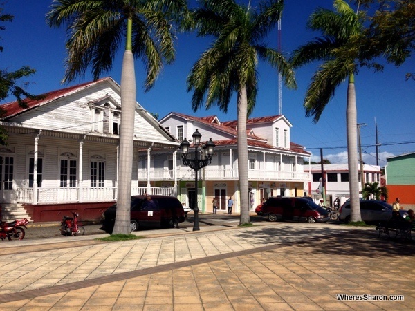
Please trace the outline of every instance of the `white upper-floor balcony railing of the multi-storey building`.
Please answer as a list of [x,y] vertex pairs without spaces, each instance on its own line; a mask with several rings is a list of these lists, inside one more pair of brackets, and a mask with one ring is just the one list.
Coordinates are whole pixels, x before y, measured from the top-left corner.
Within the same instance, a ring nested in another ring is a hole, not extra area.
[[[238,180],[238,169],[218,169],[205,167],[201,169],[199,176],[203,180]],[[139,180],[147,180],[147,170],[138,172]],[[149,171],[150,181],[156,180],[194,180],[194,170],[187,167],[178,167],[176,176],[174,170],[154,169]],[[270,171],[263,169],[250,169],[249,180],[275,180],[275,181],[296,181],[306,182],[310,180],[310,174],[299,171]]]

